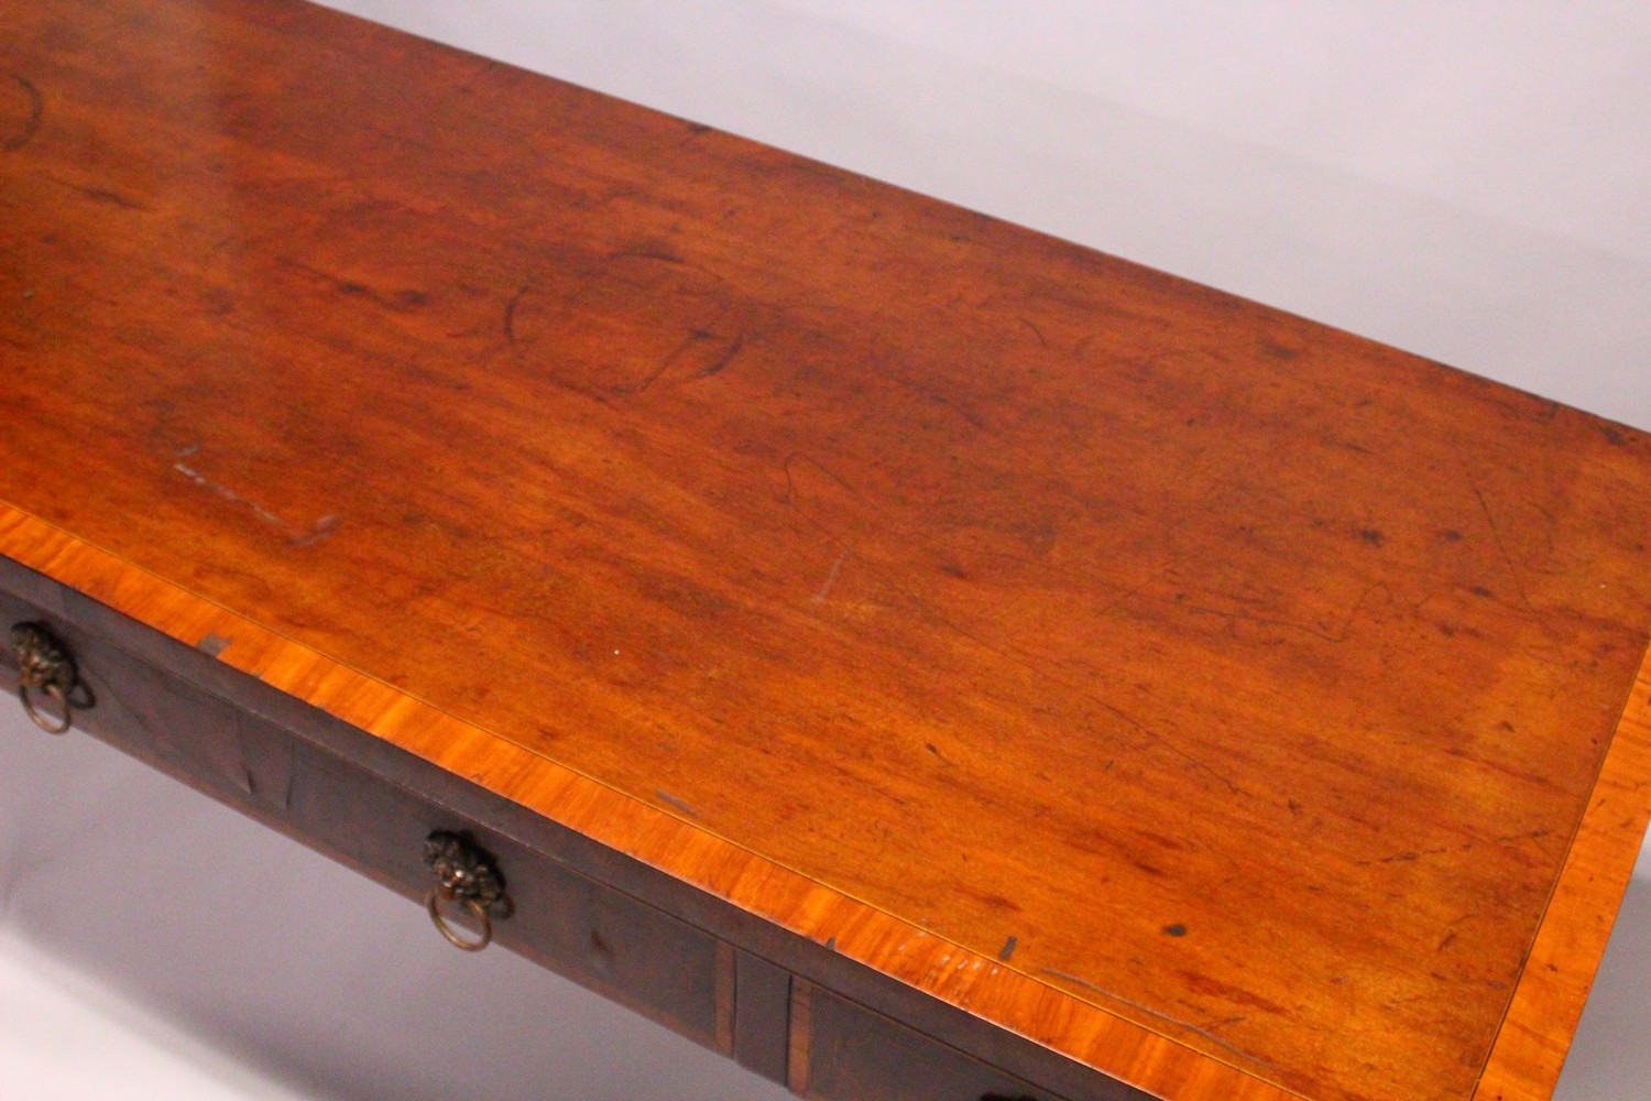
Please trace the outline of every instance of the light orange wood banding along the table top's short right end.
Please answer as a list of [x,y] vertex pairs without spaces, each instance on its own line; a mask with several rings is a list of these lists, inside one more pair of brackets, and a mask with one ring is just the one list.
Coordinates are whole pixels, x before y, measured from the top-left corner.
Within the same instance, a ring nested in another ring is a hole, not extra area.
[[1651,822],[1651,652],[1639,665],[1588,809],[1473,1101],[1547,1101]]

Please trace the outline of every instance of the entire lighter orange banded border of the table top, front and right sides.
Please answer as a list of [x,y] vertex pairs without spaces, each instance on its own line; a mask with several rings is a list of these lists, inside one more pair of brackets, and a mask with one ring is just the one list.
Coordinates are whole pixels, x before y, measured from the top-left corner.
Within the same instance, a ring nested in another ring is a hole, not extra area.
[[[1301,1098],[525,749],[0,502],[0,555],[551,822],[1157,1096]],[[528,779],[532,774],[532,779]],[[1552,1096],[1651,822],[1646,650],[1471,1101]],[[1166,1022],[1171,1023],[1171,1022]],[[1559,1027],[1555,1027],[1559,1025]]]

